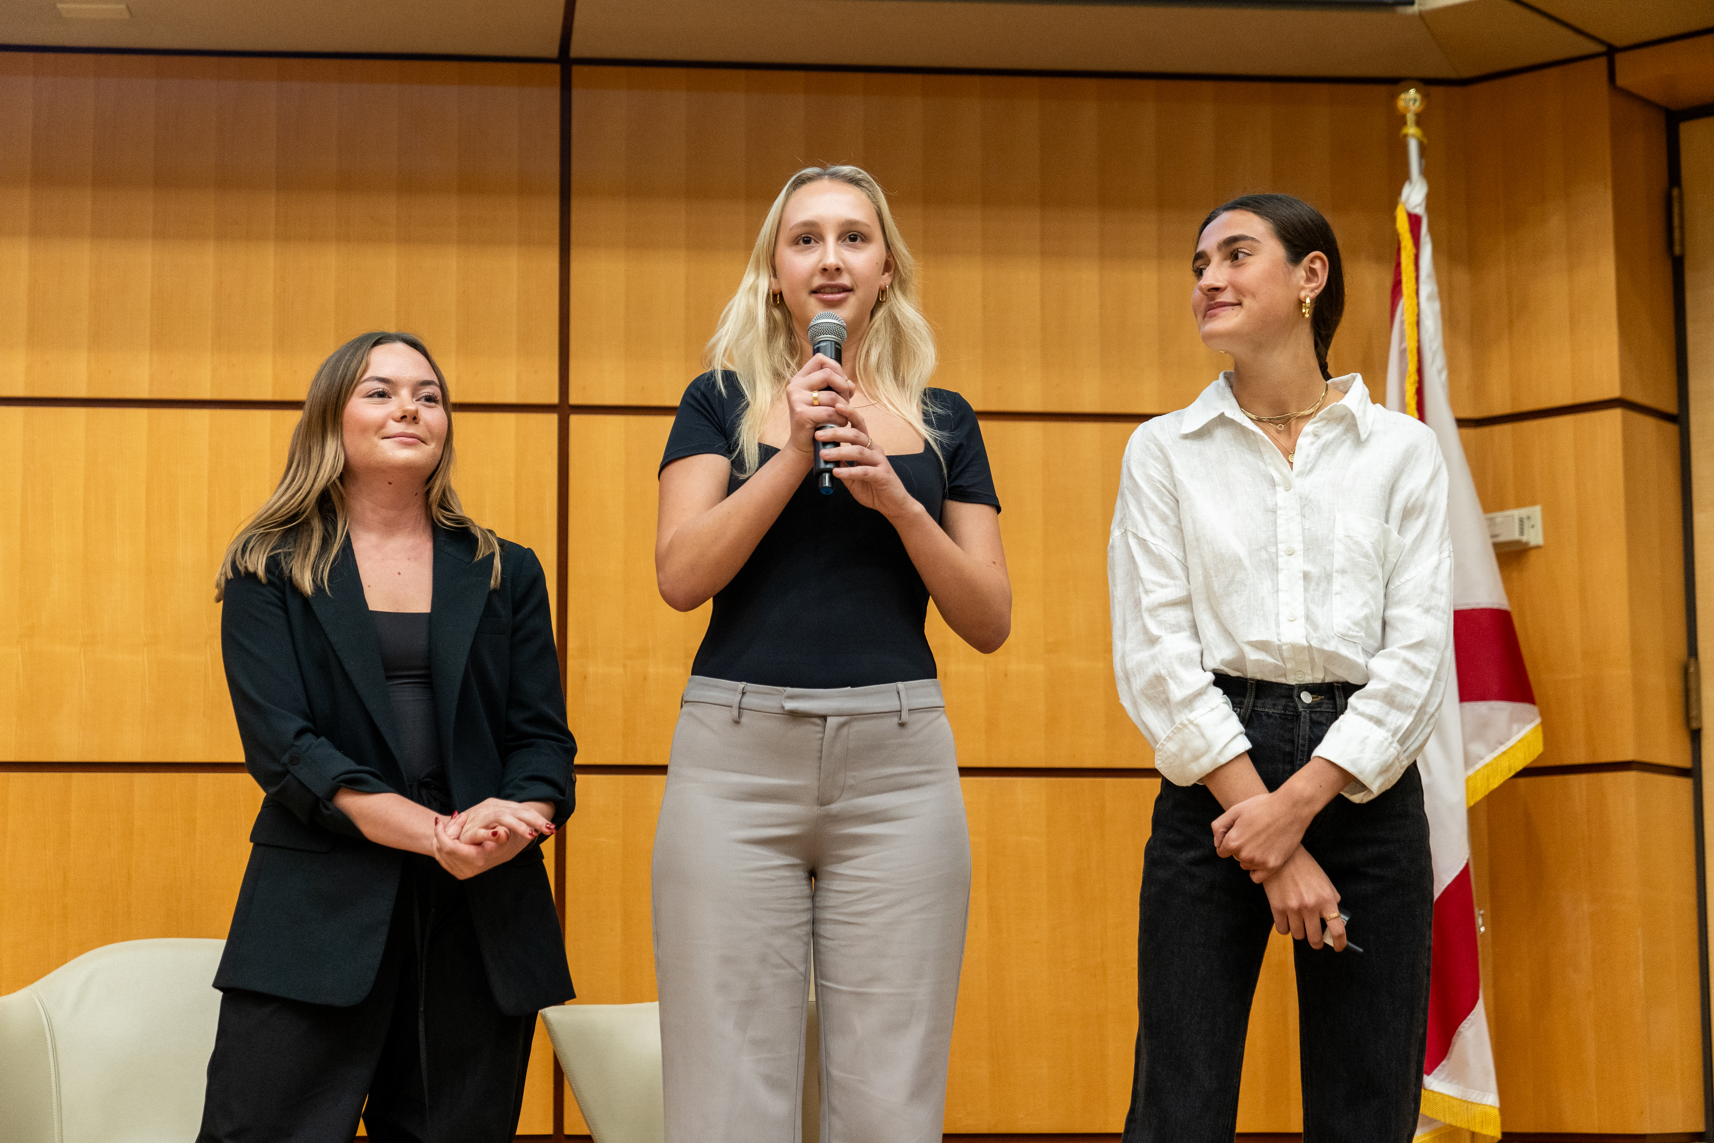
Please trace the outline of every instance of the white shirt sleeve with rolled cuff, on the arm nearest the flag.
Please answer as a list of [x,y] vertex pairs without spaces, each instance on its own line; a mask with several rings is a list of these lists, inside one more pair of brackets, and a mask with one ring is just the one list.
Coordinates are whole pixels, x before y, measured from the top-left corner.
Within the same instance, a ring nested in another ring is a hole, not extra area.
[[1381,649],[1368,661],[1368,684],[1315,751],[1356,778],[1344,790],[1352,802],[1383,793],[1423,752],[1452,673],[1452,535],[1438,444],[1424,449],[1423,466],[1429,476],[1409,494],[1399,521]]

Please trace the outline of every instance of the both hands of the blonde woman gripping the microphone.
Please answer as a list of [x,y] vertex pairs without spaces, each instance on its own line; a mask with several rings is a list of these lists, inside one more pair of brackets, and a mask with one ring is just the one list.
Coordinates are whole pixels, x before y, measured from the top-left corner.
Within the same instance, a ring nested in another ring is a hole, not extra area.
[[843,461],[833,478],[845,483],[864,507],[895,518],[917,507],[905,490],[886,452],[874,446],[869,427],[852,398],[857,386],[840,363],[821,353],[809,358],[785,387],[792,420],[790,447],[814,459],[819,451],[828,461]]

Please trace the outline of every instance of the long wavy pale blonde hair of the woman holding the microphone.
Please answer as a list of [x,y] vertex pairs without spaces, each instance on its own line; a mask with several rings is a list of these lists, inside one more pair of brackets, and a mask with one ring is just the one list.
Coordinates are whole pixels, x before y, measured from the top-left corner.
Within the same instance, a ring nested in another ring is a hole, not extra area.
[[780,197],[768,209],[749,266],[739,281],[739,291],[727,302],[715,336],[708,341],[706,360],[715,370],[715,384],[725,392],[723,374],[730,370],[744,392],[737,471],[742,476],[756,471],[763,423],[800,365],[792,312],[770,303],[768,278],[773,274],[773,248],[780,240],[785,204],[802,187],[816,182],[840,182],[860,190],[881,219],[881,235],[888,254],[893,255],[893,283],[886,290],[886,300],[876,302],[869,310],[869,331],[864,334],[857,360],[848,362],[847,368],[860,379],[876,404],[920,432],[944,463],[941,452],[944,434],[931,427],[922,415],[922,391],[934,375],[934,332],[917,308],[917,260],[893,223],[886,194],[860,166],[806,166],[787,180]]

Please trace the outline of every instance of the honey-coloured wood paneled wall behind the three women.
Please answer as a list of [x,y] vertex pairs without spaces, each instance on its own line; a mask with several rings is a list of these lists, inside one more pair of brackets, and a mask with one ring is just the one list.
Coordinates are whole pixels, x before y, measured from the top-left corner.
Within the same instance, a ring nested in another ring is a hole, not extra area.
[[[1501,567],[1549,771],[1472,817],[1507,1126],[1692,1131],[1688,783],[1551,769],[1688,761],[1671,331],[1645,211],[1661,118],[1599,63],[1431,99],[1453,406],[1630,403],[1465,432],[1484,504],[1539,502],[1548,535]],[[948,1129],[1118,1131],[1159,787],[1135,776],[1152,756],[1107,648],[1128,415],[1181,406],[1220,368],[1186,264],[1208,207],[1248,190],[1328,212],[1351,293],[1333,365],[1381,389],[1404,178],[1390,91],[572,69],[564,502],[557,125],[552,67],[0,55],[0,399],[60,403],[0,406],[0,535],[29,536],[0,547],[0,763],[24,771],[0,773],[0,990],[96,944],[219,936],[257,799],[238,773],[149,768],[238,759],[211,576],[295,415],[87,398],[295,399],[341,339],[410,327],[458,399],[499,406],[458,415],[466,507],[547,567],[566,526],[571,720],[581,761],[619,768],[583,778],[564,835],[567,951],[583,1002],[651,999],[663,778],[638,768],[667,761],[706,610],[655,591],[670,420],[638,406],[674,404],[699,370],[785,177],[855,161],[920,259],[939,384],[1006,413],[984,434],[1013,636],[980,656],[934,615],[929,632],[960,761],[980,768]],[[43,804],[91,807],[99,840],[43,841]],[[1632,1006],[1613,1020],[1606,982]],[[531,1085],[523,1129],[548,1131],[545,1038]],[[569,1093],[564,1126],[583,1129]],[[1239,1128],[1299,1126],[1282,941]]]

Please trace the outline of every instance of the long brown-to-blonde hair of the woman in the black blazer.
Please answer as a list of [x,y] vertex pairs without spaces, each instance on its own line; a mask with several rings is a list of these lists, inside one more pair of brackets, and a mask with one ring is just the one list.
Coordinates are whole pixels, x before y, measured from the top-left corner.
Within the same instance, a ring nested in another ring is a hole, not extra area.
[[405,344],[428,362],[440,382],[440,399],[446,403],[446,444],[440,446],[440,463],[428,473],[428,518],[440,528],[468,530],[476,536],[476,559],[494,557],[494,574],[488,589],[500,586],[500,538],[464,516],[452,492],[452,394],[446,375],[428,353],[428,346],[411,334],[367,332],[351,338],[333,351],[310,382],[303,398],[303,416],[291,430],[286,449],[286,471],[267,502],[245,521],[243,528],[221,557],[214,576],[214,600],[226,595],[226,581],[250,574],[267,583],[267,560],[281,552],[286,574],[303,595],[315,588],[327,589],[333,564],[350,533],[345,485],[345,406],[351,391],[369,368],[369,353],[379,344]]

